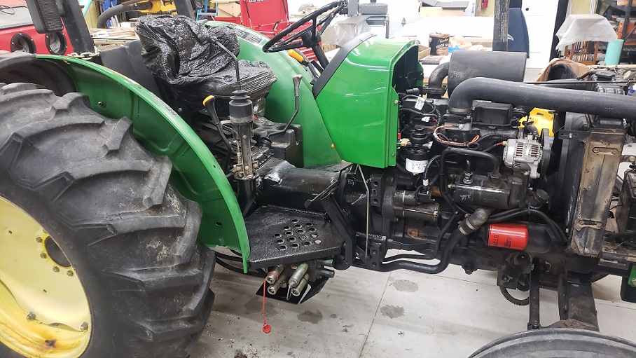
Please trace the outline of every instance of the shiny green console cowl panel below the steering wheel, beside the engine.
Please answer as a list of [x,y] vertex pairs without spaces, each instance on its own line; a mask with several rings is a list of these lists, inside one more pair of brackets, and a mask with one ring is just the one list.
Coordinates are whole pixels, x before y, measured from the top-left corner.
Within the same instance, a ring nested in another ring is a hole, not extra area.
[[[416,46],[415,41],[371,37],[347,55],[319,93],[318,107],[343,160],[379,168],[395,165],[398,95],[392,87],[394,68]],[[415,55],[417,62],[417,51]]]

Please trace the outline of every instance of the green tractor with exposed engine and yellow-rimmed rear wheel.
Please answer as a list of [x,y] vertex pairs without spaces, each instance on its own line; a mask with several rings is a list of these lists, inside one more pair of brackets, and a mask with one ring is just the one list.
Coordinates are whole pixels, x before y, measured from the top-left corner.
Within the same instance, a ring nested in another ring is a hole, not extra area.
[[290,303],[351,266],[491,270],[528,331],[474,357],[635,357],[591,291],[618,275],[636,301],[636,98],[615,71],[530,85],[523,54],[458,52],[424,86],[415,41],[327,59],[346,1],[271,40],[148,16],[97,52],[76,1],[27,3],[76,53],[0,55],[0,357],[188,357],[215,263]]

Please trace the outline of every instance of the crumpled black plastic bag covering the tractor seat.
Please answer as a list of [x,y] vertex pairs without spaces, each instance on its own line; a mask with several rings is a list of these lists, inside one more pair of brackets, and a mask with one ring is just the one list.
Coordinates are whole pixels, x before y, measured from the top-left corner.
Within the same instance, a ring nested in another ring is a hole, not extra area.
[[[236,89],[234,60],[214,43],[239,53],[229,25],[207,27],[182,15],[148,15],[137,22],[137,34],[146,67],[186,104],[200,108],[208,95],[229,96]],[[276,81],[265,62],[240,60],[239,70],[242,88],[252,98],[265,95]]]

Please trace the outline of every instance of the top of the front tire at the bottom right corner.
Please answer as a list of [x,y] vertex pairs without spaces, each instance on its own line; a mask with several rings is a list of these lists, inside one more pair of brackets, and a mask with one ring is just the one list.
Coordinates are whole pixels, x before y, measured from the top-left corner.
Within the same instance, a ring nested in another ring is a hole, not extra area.
[[484,345],[470,358],[633,358],[636,344],[595,331],[544,328],[514,333]]

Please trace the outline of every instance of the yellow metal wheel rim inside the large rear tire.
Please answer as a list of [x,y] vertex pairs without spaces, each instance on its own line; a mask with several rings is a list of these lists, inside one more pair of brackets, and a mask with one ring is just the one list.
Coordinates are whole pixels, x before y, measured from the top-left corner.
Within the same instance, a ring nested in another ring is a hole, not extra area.
[[25,357],[79,357],[90,339],[88,299],[53,237],[0,197],[0,342]]

